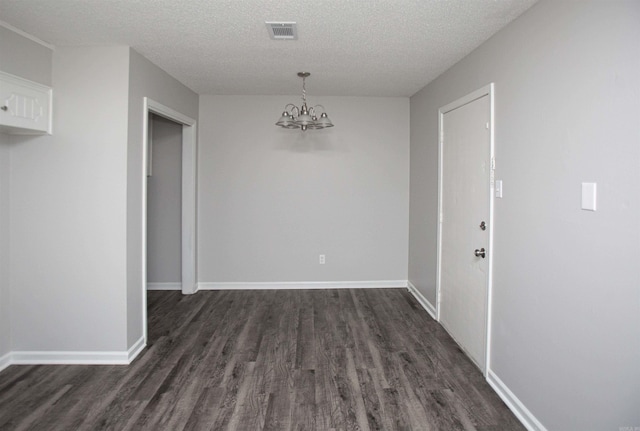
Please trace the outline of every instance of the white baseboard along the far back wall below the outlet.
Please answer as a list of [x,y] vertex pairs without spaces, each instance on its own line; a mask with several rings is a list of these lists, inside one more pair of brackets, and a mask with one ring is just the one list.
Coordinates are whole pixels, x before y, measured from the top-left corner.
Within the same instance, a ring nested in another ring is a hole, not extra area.
[[406,288],[407,280],[198,283],[198,290],[379,289],[396,287]]

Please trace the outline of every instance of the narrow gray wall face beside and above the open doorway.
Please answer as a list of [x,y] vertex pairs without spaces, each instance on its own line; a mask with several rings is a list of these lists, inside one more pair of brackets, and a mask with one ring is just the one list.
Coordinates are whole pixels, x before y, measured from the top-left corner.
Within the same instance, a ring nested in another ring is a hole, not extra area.
[[130,50],[129,134],[127,149],[127,343],[132,346],[143,334],[142,304],[145,286],[142,264],[142,184],[143,170],[143,98],[198,118],[198,95],[155,64]]

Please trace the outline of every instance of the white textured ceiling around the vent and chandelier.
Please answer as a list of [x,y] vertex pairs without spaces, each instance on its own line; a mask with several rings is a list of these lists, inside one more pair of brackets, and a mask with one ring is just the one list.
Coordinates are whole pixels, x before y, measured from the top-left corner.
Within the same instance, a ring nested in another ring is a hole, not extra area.
[[[536,0],[0,0],[53,45],[129,45],[199,94],[411,96]],[[296,21],[296,41],[265,21]]]

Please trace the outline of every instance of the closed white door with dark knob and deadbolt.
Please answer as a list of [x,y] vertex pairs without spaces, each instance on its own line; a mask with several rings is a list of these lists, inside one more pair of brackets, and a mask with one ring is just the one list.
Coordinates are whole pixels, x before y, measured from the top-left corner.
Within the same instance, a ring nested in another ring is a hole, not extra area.
[[440,113],[439,318],[484,371],[490,268],[491,94],[468,97]]

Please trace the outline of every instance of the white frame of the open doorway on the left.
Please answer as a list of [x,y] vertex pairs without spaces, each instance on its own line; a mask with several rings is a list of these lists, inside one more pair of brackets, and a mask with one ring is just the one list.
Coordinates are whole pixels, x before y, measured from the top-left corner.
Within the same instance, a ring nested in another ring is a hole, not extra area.
[[189,295],[197,289],[196,276],[196,120],[148,97],[143,101],[142,125],[142,315],[144,339],[147,341],[147,172],[149,169],[149,114],[159,115],[182,126],[182,204],[181,204],[181,267],[182,293]]

